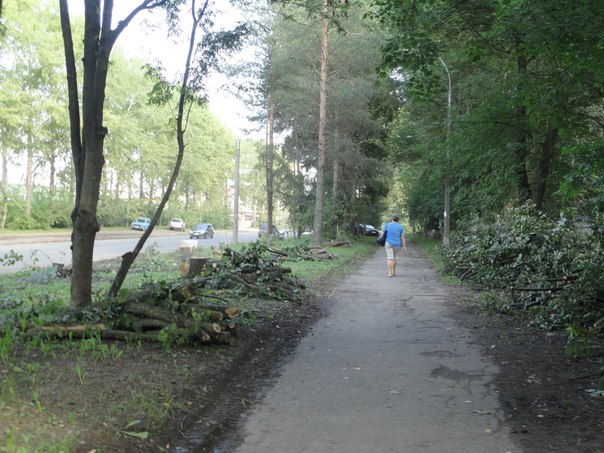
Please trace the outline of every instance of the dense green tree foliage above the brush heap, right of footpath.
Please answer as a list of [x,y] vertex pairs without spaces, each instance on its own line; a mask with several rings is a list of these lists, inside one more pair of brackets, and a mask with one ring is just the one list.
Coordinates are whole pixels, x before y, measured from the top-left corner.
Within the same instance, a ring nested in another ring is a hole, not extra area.
[[398,82],[389,150],[412,221],[439,228],[449,168],[452,228],[528,199],[602,223],[602,5],[370,4],[386,39],[380,73]]

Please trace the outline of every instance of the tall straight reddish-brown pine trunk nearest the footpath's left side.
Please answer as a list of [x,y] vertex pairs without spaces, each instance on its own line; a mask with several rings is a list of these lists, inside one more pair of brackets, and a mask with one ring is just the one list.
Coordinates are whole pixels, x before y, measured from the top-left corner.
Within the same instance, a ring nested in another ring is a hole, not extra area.
[[313,245],[323,242],[323,211],[325,201],[325,160],[327,154],[327,61],[329,50],[329,19],[327,1],[322,1],[323,31],[321,35],[321,83],[319,94],[319,158],[317,161],[317,195],[315,198],[315,217],[313,221]]

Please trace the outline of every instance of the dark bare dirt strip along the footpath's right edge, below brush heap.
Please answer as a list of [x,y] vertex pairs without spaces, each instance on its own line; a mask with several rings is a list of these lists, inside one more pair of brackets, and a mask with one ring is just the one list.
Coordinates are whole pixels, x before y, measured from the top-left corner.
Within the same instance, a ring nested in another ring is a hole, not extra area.
[[570,359],[565,335],[525,327],[511,316],[485,314],[461,293],[451,315],[499,367],[493,385],[524,451],[604,452],[604,398],[587,392],[597,387],[604,370],[604,339],[591,338],[591,356]]

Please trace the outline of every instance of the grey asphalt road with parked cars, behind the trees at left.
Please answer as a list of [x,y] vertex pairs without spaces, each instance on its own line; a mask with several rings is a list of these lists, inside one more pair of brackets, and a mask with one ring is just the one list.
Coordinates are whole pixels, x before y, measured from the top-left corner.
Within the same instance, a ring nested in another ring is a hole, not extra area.
[[[94,260],[116,258],[132,250],[141,236],[140,231],[101,231],[94,246]],[[197,240],[198,247],[210,247],[220,243],[230,244],[232,232],[217,230],[212,239]],[[252,242],[258,239],[257,230],[240,230],[239,242]],[[189,240],[188,231],[156,229],[147,239],[145,248],[156,248],[160,253],[177,251],[183,240]],[[23,259],[13,265],[0,265],[0,274],[36,266],[49,267],[52,263],[71,264],[71,242],[68,233],[14,234],[0,236],[0,257],[11,251],[22,255]]]

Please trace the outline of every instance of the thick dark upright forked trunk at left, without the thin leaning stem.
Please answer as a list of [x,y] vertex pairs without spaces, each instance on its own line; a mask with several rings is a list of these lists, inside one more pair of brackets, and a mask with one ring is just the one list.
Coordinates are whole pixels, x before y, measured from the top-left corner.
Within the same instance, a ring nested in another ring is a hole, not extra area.
[[102,11],[99,0],[84,1],[84,65],[80,131],[77,69],[67,0],[59,0],[59,7],[65,47],[71,145],[76,179],[76,199],[72,211],[70,298],[72,306],[83,307],[92,302],[93,251],[96,233],[99,231],[96,214],[101,175],[105,164],[103,144],[107,130],[103,126],[103,108],[109,56],[115,39],[134,15],[120,22],[118,27],[112,30],[113,1],[105,1]]

